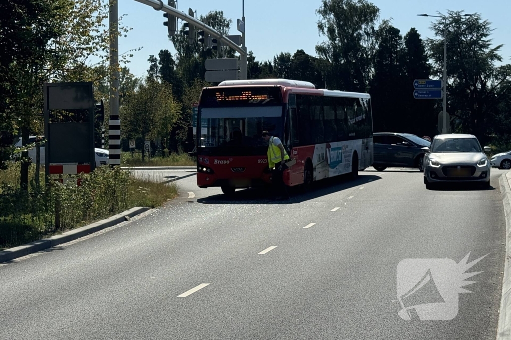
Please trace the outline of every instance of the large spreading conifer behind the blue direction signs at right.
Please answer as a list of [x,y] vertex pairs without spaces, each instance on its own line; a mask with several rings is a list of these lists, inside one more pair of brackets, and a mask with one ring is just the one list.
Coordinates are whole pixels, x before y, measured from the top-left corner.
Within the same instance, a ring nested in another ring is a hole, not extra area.
[[[449,11],[432,24],[440,39],[428,39],[433,73],[442,77],[444,38],[447,42],[447,112],[455,130],[474,134],[481,143],[490,139],[492,115],[509,92],[504,86],[511,76],[502,61],[502,45],[492,47],[491,23],[475,14]],[[440,78],[441,79],[441,78]]]

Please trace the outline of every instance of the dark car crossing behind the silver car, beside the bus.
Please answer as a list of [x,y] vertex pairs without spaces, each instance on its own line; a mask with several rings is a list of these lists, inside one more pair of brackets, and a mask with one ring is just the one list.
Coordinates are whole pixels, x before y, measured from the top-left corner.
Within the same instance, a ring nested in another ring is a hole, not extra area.
[[373,134],[373,167],[383,171],[388,167],[417,168],[424,171],[423,147],[431,144],[425,139],[410,134]]

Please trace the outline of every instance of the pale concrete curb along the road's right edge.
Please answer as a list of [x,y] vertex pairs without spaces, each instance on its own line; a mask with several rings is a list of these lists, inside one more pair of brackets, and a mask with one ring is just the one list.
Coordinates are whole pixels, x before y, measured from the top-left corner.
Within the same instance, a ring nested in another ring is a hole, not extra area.
[[504,220],[506,223],[504,273],[502,275],[502,293],[500,298],[499,321],[497,325],[497,340],[511,339],[511,172],[499,177],[500,194],[504,206]]

